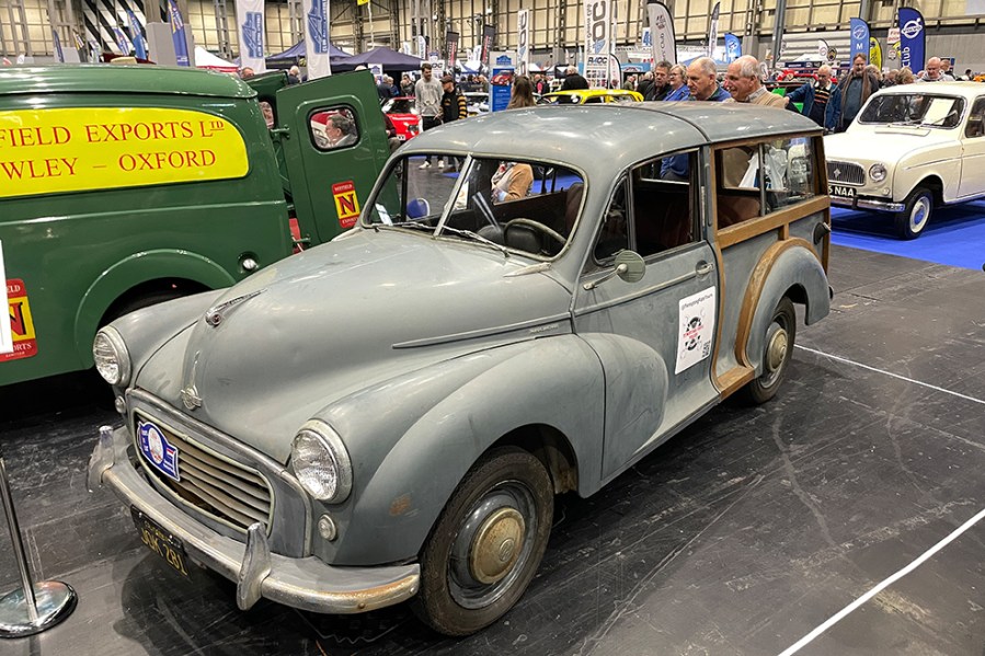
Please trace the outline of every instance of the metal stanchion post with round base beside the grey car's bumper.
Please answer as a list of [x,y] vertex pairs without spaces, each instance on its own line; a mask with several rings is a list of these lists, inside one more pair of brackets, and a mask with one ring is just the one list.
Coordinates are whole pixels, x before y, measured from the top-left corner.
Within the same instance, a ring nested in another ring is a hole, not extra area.
[[7,465],[0,450],[0,497],[3,498],[3,513],[13,543],[14,557],[21,574],[21,589],[0,598],[0,637],[24,637],[50,629],[76,608],[76,591],[71,586],[45,580],[33,583],[24,542],[21,539],[21,527],[14,511],[13,498],[10,494],[10,481],[7,477]]

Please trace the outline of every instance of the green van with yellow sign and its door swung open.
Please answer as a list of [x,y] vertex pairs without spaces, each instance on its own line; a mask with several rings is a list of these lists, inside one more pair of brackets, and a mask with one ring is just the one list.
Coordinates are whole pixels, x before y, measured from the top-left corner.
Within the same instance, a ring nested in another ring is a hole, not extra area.
[[116,317],[230,286],[355,223],[389,156],[371,74],[251,84],[148,66],[0,70],[13,342],[0,385],[89,368]]

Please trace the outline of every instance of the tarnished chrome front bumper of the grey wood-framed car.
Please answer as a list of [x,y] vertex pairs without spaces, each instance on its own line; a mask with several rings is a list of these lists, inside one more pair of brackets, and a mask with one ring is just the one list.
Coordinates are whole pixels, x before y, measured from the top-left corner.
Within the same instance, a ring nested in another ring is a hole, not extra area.
[[392,606],[413,597],[421,566],[334,567],[314,556],[291,559],[272,554],[259,525],[243,544],[198,523],[159,495],[140,475],[127,454],[126,428],[100,429],[89,460],[89,488],[107,486],[136,506],[162,529],[179,538],[188,556],[237,584],[242,610],[261,597],[323,613],[358,613]]

